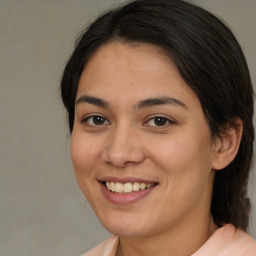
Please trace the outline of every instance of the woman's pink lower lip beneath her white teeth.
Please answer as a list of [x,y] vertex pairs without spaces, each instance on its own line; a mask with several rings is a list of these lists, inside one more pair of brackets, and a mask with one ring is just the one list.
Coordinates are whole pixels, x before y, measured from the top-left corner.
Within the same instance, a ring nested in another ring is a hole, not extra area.
[[101,186],[101,191],[105,196],[105,198],[109,202],[113,204],[119,204],[119,205],[128,205],[128,204],[135,203],[145,198],[146,196],[148,196],[156,187],[156,186],[153,186],[151,188],[147,188],[145,190],[139,190],[129,194],[118,194],[108,190],[102,182],[100,182],[100,186]]

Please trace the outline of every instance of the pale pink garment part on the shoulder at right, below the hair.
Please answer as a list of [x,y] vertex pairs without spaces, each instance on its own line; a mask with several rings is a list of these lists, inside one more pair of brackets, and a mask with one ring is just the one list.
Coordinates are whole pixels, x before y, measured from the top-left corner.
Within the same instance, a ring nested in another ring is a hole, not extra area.
[[193,256],[255,256],[256,241],[227,224],[219,228]]

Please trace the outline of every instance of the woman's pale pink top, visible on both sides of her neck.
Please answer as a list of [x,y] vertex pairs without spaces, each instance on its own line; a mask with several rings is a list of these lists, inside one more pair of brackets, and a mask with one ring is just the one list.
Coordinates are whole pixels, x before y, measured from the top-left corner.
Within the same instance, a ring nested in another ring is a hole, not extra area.
[[[112,236],[82,256],[115,256],[118,236]],[[256,256],[256,241],[240,229],[228,224],[217,229],[191,256]]]

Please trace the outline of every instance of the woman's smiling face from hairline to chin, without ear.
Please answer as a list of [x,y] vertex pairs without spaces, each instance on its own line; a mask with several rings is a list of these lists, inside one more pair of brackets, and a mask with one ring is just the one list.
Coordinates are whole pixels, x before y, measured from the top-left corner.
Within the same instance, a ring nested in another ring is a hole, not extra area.
[[111,42],[91,57],[71,157],[106,229],[144,237],[201,225],[210,216],[215,151],[197,96],[161,49]]

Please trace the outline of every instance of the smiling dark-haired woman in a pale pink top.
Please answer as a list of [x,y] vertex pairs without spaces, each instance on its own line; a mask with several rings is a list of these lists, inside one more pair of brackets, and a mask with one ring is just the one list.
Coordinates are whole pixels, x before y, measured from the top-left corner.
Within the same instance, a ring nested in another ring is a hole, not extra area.
[[253,89],[231,31],[178,0],[82,34],[61,82],[79,186],[114,234],[85,255],[256,255]]

